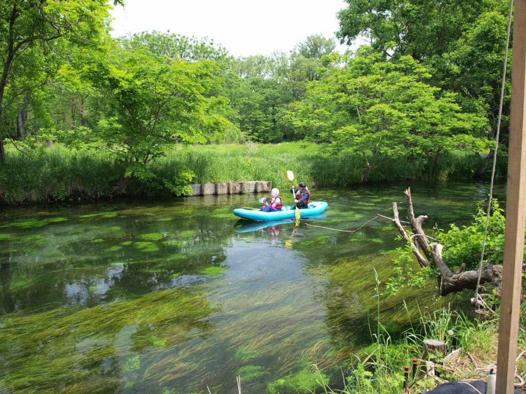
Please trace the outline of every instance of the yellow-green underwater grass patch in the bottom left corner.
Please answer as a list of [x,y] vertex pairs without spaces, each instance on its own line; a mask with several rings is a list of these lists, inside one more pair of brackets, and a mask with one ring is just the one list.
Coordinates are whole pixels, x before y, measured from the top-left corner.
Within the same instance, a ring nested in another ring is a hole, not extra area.
[[[206,298],[175,288],[91,308],[64,306],[7,315],[0,327],[0,352],[7,366],[0,372],[0,383],[17,392],[71,385],[78,385],[77,392],[90,392],[86,379],[107,376],[113,377],[114,385],[121,373],[126,374],[124,367],[131,368],[130,358],[140,366],[152,336],[172,348],[180,346],[196,335],[196,328],[208,329],[199,320],[212,311]],[[123,330],[129,334],[119,335]],[[104,362],[111,362],[112,370],[103,373]]]

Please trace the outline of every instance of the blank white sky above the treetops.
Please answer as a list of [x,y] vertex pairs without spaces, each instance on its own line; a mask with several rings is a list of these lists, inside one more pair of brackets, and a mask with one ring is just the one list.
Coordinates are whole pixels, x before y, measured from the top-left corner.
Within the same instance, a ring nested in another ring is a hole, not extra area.
[[[311,34],[333,37],[343,0],[126,0],[113,11],[114,37],[145,30],[208,37],[231,55],[289,51]],[[338,51],[346,47],[338,45]]]

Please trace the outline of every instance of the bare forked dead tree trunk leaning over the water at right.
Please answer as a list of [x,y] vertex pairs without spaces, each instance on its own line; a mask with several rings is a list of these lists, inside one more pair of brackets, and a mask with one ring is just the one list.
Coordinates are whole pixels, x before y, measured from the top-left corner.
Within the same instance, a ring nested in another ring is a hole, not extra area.
[[[411,189],[404,191],[407,201],[407,219],[411,226],[411,232],[413,235],[409,236],[407,231],[402,226],[399,219],[398,205],[393,202],[393,213],[395,219],[393,223],[398,229],[398,232],[402,235],[403,239],[411,244],[413,254],[417,257],[418,263],[421,267],[427,267],[432,264],[438,269],[440,274],[438,281],[440,286],[440,294],[446,295],[449,293],[459,292],[463,289],[474,290],[477,287],[477,279],[479,271],[473,269],[471,271],[463,271],[464,267],[461,266],[457,272],[451,271],[451,269],[444,263],[442,258],[443,245],[438,242],[430,243],[428,239],[432,239],[426,235],[422,229],[422,224],[426,222],[428,217],[426,215],[420,215],[416,217],[414,215],[413,203],[411,200]],[[500,287],[502,283],[502,265],[486,264],[482,267],[480,276],[480,285],[492,284],[497,288],[500,294]]]

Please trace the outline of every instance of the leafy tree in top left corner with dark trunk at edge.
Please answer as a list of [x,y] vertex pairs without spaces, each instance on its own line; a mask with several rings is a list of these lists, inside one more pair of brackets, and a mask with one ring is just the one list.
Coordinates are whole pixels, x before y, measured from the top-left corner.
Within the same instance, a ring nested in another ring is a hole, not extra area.
[[[114,3],[120,3],[115,0]],[[94,45],[107,28],[106,0],[9,0],[0,5],[0,119],[9,76],[24,51],[41,46],[52,56],[60,45]],[[1,126],[1,125],[0,125]],[[0,128],[0,162],[5,162]]]

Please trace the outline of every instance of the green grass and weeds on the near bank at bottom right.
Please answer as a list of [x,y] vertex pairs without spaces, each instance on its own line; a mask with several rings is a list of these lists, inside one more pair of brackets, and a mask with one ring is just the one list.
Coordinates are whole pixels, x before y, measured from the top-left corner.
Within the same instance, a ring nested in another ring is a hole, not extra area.
[[[378,344],[372,344],[358,351],[349,359],[349,371],[342,390],[333,390],[328,385],[323,389],[327,394],[398,394],[403,387],[404,367],[411,365],[411,359],[421,359],[423,339],[437,339],[446,343],[446,351],[462,348],[477,355],[493,354],[496,351],[495,330],[497,324],[489,321],[474,324],[462,313],[450,308],[436,310],[430,314],[420,314],[419,324],[392,341],[386,333]],[[473,376],[473,371],[456,372],[451,376],[449,368],[441,368],[441,357],[434,357],[437,371],[444,379],[463,380]],[[410,377],[411,379],[411,377]],[[410,380],[410,383],[413,383]],[[434,380],[414,381],[416,392],[431,390],[436,386]]]

